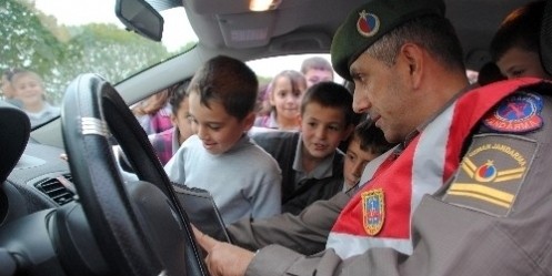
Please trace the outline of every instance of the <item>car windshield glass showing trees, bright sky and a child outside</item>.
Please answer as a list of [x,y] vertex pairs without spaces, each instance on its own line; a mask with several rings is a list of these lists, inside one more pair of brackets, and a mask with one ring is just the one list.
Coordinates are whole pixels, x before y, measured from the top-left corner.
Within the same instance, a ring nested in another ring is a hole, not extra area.
[[2,99],[22,108],[33,127],[57,117],[63,92],[78,74],[98,73],[117,84],[198,41],[182,7],[161,12],[159,43],[127,31],[116,16],[116,0],[2,2]]

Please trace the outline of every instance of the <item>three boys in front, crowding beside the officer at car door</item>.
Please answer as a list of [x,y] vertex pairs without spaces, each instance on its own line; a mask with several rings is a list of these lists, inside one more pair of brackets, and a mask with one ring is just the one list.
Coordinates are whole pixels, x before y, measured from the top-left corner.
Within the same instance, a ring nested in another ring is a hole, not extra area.
[[185,89],[188,105],[177,110],[185,110],[194,134],[164,165],[177,185],[209,191],[228,224],[298,214],[354,186],[364,165],[392,146],[379,129],[359,124],[351,92],[332,81],[301,93],[297,131],[250,132],[258,86],[242,61],[207,61]]

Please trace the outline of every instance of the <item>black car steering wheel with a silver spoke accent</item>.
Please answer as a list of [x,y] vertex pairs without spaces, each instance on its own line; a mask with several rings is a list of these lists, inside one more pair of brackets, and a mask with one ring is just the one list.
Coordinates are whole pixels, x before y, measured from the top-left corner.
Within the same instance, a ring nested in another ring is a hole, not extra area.
[[[79,75],[63,98],[61,127],[79,201],[110,270],[208,275],[172,184],[114,88],[99,75]],[[110,133],[140,181],[121,177]]]

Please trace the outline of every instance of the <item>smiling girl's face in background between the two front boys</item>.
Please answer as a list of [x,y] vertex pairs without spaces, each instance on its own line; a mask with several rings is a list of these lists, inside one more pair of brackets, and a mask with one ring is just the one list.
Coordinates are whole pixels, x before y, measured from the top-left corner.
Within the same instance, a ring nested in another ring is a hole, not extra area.
[[285,76],[280,76],[274,80],[274,86],[270,96],[270,104],[277,110],[278,116],[287,121],[298,120],[301,106],[301,99],[305,86],[298,86],[295,91],[292,90],[291,80]]

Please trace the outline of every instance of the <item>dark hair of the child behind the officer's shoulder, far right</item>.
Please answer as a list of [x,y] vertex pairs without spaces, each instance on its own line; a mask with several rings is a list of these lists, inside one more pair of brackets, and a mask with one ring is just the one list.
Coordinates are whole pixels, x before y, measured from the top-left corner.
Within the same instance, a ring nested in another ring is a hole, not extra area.
[[494,61],[513,47],[539,53],[541,41],[541,21],[546,1],[529,2],[508,14],[491,41],[491,54]]

